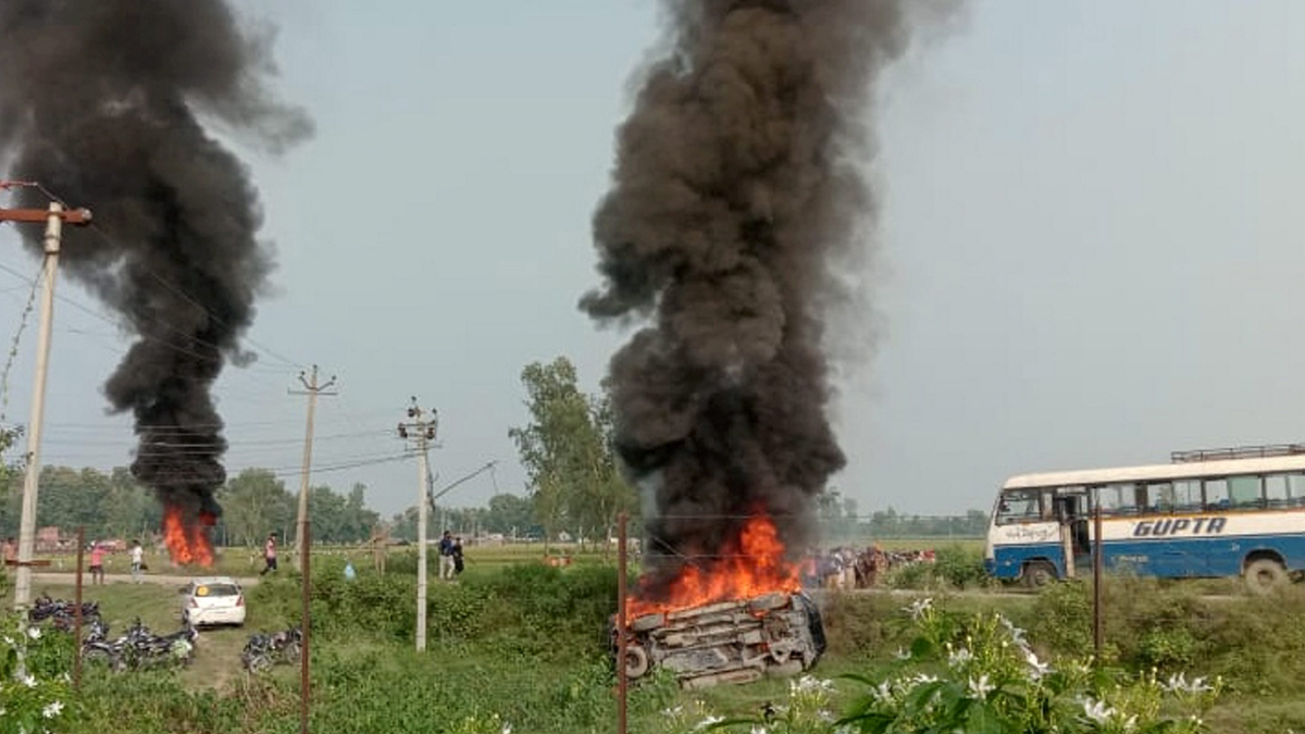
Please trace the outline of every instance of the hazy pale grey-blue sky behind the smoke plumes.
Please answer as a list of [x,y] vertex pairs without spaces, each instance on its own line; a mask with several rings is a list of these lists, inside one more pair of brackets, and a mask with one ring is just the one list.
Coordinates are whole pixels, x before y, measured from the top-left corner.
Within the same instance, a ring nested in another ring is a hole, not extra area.
[[[415,394],[441,414],[437,485],[501,461],[452,504],[523,491],[521,368],[568,355],[594,388],[621,340],[576,302],[598,283],[590,214],[656,3],[241,8],[281,27],[281,89],[318,135],[281,159],[241,150],[279,268],[251,332],[275,354],[219,384],[228,470],[298,487],[288,359],[339,375],[318,469],[399,453]],[[951,513],[1015,473],[1305,440],[1301,38],[1293,0],[989,0],[917,46],[876,120],[877,311],[857,323],[880,336],[840,367],[839,490]],[[4,229],[0,264],[38,266]],[[0,272],[5,342],[25,296]],[[54,343],[43,458],[129,462],[130,423],[99,392],[128,342],[60,302]],[[34,345],[9,423],[27,419]],[[365,482],[386,513],[416,479],[412,461],[315,474]]]

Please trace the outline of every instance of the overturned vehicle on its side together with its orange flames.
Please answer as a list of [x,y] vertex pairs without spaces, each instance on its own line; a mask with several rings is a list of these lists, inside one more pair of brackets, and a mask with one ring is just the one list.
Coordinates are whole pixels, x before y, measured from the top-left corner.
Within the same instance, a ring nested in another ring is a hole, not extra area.
[[736,542],[709,563],[685,563],[659,597],[650,577],[625,601],[626,627],[611,626],[612,652],[625,635],[625,674],[675,674],[684,688],[749,683],[809,670],[825,652],[820,609],[784,560],[778,530],[752,517]]

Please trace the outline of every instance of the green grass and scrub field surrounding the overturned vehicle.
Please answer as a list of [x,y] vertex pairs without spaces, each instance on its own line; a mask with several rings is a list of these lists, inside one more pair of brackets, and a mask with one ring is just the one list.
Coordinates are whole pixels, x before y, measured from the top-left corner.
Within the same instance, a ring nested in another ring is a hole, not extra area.
[[[929,546],[974,552],[966,546]],[[435,581],[432,569],[429,649],[420,654],[412,650],[411,635],[415,552],[397,549],[384,579],[371,571],[369,555],[335,549],[315,554],[315,731],[500,734],[496,721],[510,722],[518,734],[613,730],[602,631],[613,607],[613,559],[577,554],[573,566],[555,569],[540,563],[540,546],[471,547],[467,554],[467,572],[454,584]],[[343,580],[346,558],[358,567],[356,582]],[[73,596],[64,582],[35,590]],[[1305,729],[1305,695],[1296,694],[1296,680],[1305,675],[1305,631],[1297,624],[1305,615],[1305,589],[1265,599],[1245,594],[1233,581],[1112,579],[1107,593],[1107,650],[1114,663],[1130,670],[1154,666],[1161,677],[1178,670],[1227,677],[1228,694],[1208,713],[1211,731]],[[893,653],[910,643],[902,636],[902,607],[912,594],[921,593],[818,594],[830,648],[814,673],[876,675],[890,665]],[[86,586],[84,596],[100,602],[114,632],[137,616],[158,632],[179,624],[175,585],[111,582]],[[1028,628],[1047,654],[1091,649],[1091,597],[1082,584],[1041,594],[984,589],[941,597],[950,609],[1001,611]],[[214,734],[296,730],[298,669],[282,666],[253,678],[239,662],[251,632],[298,619],[296,576],[284,569],[248,589],[248,598],[247,627],[201,632],[196,661],[187,670],[87,673],[87,718],[72,731],[114,725],[124,731]],[[762,680],[679,692],[655,680],[633,692],[630,731],[671,731],[667,710],[756,713],[784,701],[788,686],[788,680]],[[839,691],[835,708],[856,694],[843,686]],[[168,724],[179,721],[185,724]]]

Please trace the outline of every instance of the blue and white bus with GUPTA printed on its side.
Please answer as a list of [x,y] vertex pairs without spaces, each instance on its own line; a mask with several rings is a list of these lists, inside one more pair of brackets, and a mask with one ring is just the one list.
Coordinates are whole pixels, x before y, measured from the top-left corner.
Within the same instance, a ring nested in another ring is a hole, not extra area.
[[1305,572],[1305,444],[1174,452],[1169,464],[1011,477],[988,526],[997,579],[1090,575],[1100,512],[1105,569],[1241,576],[1265,592]]

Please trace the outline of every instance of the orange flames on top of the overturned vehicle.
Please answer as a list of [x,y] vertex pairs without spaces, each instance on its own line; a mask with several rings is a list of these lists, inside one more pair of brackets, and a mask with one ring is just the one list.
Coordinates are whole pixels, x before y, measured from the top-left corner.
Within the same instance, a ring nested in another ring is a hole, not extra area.
[[748,520],[736,543],[707,564],[686,563],[664,599],[626,601],[626,623],[645,614],[675,611],[727,599],[746,599],[771,592],[801,589],[799,567],[784,559],[784,543],[770,517]]

